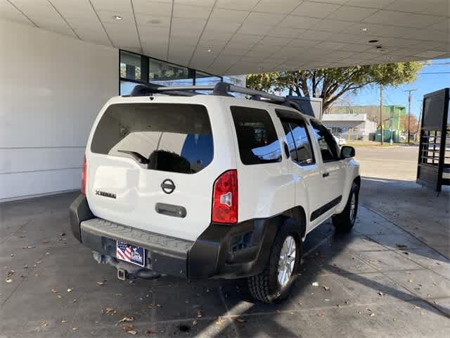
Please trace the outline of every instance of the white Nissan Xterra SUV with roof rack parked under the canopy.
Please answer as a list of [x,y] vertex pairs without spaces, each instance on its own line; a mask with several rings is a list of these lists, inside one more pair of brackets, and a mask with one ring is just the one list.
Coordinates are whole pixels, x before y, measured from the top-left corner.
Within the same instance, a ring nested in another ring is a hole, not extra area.
[[307,234],[330,216],[353,227],[360,186],[354,149],[298,109],[222,82],[113,97],[87,142],[73,234],[120,279],[246,277],[255,299],[281,301]]

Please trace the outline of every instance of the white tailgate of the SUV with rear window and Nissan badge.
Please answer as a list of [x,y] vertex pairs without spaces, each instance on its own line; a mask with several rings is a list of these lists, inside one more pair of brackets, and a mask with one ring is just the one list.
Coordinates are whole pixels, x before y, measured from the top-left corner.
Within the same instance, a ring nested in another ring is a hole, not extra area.
[[91,211],[115,223],[195,240],[210,224],[214,180],[236,168],[227,144],[229,115],[211,96],[205,105],[193,98],[129,100],[107,106],[89,138]]

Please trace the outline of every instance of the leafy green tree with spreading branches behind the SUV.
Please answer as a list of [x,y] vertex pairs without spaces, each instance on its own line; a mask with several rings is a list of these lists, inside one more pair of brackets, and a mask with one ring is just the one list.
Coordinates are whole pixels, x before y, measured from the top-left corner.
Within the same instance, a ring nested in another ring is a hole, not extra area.
[[319,68],[278,73],[247,75],[247,86],[269,92],[288,92],[289,95],[320,97],[323,111],[345,93],[369,84],[397,86],[416,80],[423,63],[387,63],[383,65],[355,65],[347,68]]

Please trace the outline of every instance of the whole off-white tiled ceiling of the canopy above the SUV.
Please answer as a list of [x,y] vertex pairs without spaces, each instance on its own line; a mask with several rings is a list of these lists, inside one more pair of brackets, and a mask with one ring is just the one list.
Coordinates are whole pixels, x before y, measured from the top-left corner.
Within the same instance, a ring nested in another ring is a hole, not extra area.
[[210,73],[408,61],[450,52],[449,0],[10,1],[14,6],[0,2],[0,18]]

